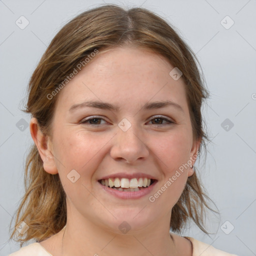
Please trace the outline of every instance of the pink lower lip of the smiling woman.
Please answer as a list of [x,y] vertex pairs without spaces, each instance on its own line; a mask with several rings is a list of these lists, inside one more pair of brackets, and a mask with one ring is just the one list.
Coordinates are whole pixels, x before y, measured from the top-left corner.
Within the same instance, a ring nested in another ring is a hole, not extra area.
[[98,182],[98,184],[108,193],[114,195],[115,197],[121,198],[121,199],[138,199],[144,195],[149,194],[155,183],[157,183],[157,181],[154,181],[150,186],[142,188],[138,191],[119,191],[113,188],[110,188],[108,186],[102,185],[101,183]]

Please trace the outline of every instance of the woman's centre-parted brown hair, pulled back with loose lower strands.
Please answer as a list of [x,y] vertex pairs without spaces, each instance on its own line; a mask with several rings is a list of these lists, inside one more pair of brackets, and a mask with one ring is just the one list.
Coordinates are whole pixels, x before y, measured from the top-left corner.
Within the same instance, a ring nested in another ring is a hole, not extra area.
[[[50,42],[35,68],[28,86],[26,109],[39,123],[41,131],[50,136],[50,125],[57,95],[49,94],[73,72],[93,51],[134,45],[164,56],[182,71],[190,111],[193,135],[207,139],[202,129],[201,104],[208,93],[203,85],[195,55],[163,18],[144,8],[125,10],[117,5],[103,5],[87,10],[64,25]],[[15,226],[24,221],[29,229],[17,234],[20,245],[32,238],[43,240],[59,232],[66,223],[65,192],[58,174],[49,174],[35,145],[25,165],[25,194],[17,210]],[[205,233],[203,216],[209,199],[203,192],[196,173],[188,177],[185,188],[172,208],[170,228],[180,232],[192,218]],[[214,211],[214,210],[213,210]],[[215,211],[214,211],[215,212]]]

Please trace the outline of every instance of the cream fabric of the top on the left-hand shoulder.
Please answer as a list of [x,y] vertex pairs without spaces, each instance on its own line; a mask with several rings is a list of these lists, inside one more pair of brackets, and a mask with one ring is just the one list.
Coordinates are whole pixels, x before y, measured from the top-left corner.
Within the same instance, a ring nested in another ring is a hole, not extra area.
[[52,256],[48,253],[39,242],[30,243],[8,256]]

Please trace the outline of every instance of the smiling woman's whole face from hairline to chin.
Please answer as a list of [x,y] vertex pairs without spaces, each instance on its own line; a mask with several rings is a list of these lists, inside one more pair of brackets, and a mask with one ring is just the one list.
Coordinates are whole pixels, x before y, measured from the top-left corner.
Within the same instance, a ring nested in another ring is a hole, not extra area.
[[73,216],[114,232],[123,221],[131,230],[161,221],[168,228],[198,149],[173,68],[140,48],[99,50],[58,93],[55,170],[44,169],[59,173]]

